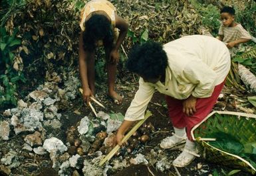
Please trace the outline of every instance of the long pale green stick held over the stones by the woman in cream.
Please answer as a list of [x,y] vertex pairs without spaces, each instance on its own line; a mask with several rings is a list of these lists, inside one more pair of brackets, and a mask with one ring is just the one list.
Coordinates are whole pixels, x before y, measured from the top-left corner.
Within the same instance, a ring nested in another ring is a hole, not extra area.
[[[130,132],[128,132],[128,134],[126,134],[126,136],[124,136],[124,138],[122,139],[122,144],[124,142],[126,142],[130,136],[132,136],[132,134],[134,134],[134,132],[136,132],[136,130],[148,119],[148,117],[150,117],[152,115],[152,113],[148,110],[144,116],[144,119],[140,120],[131,130]],[[120,146],[117,144],[110,152],[108,155],[106,155],[102,161],[100,161],[100,166],[102,166],[106,161],[109,161],[114,154],[116,154],[116,152],[118,152],[118,150],[120,149]]]

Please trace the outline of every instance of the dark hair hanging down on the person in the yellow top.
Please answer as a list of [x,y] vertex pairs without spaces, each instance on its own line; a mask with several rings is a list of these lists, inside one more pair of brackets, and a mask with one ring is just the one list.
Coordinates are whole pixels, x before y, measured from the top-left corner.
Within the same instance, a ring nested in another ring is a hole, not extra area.
[[96,48],[96,42],[103,40],[104,46],[112,47],[114,41],[111,22],[104,15],[92,15],[84,22],[85,31],[82,33],[84,50],[92,51]]

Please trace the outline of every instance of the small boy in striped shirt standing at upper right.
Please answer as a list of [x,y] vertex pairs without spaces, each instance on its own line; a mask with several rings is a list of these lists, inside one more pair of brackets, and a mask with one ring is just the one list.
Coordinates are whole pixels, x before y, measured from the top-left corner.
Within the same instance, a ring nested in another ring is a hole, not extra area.
[[226,44],[232,56],[237,52],[239,44],[251,40],[251,35],[241,24],[235,22],[235,9],[233,7],[225,6],[221,9],[221,21],[217,38]]

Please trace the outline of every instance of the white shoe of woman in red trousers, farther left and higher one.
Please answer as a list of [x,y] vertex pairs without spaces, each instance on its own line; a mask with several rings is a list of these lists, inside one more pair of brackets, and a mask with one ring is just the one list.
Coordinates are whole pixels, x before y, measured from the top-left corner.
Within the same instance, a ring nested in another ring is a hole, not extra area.
[[174,134],[173,136],[164,138],[164,140],[161,141],[160,147],[161,148],[172,148],[178,144],[185,143],[187,140],[187,134],[184,134],[184,136],[180,137]]

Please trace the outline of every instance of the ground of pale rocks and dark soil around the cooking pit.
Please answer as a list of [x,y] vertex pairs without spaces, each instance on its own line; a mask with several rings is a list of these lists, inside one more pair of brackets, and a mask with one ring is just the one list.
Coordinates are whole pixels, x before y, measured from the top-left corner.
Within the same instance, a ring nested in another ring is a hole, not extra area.
[[[13,109],[3,110],[0,122],[2,175],[213,175],[231,168],[196,158],[188,167],[176,170],[172,161],[180,154],[177,146],[162,150],[160,141],[173,132],[168,120],[164,96],[156,93],[149,105],[152,116],[132,136],[135,146],[121,148],[103,167],[98,163],[110,152],[111,136],[122,122],[123,115],[138,89],[138,77],[124,77],[117,88],[124,95],[122,105],[114,105],[106,91],[98,87],[96,99],[106,106],[92,105],[98,118],[81,101],[76,75],[59,76],[53,73],[44,85],[37,87]],[[131,81],[132,80],[132,81]],[[225,93],[223,94],[225,95]],[[221,98],[223,100],[223,98]],[[225,101],[215,109],[231,110]],[[114,118],[113,118],[114,116]],[[145,127],[150,130],[145,131]],[[143,130],[144,129],[144,130]],[[105,132],[108,140],[98,140],[98,132]],[[146,134],[149,139],[138,138]],[[98,144],[97,142],[98,141]],[[102,148],[106,146],[106,148]],[[249,173],[240,172],[241,175]]]

